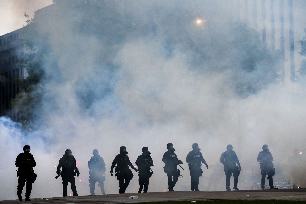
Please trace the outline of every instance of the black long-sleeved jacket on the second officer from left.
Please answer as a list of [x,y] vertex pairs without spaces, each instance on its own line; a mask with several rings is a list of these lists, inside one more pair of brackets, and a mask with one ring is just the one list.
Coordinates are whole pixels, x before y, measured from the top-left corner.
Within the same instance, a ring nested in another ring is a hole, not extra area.
[[56,173],[60,173],[62,167],[62,174],[65,176],[71,176],[74,174],[74,171],[77,174],[80,174],[79,169],[76,167],[76,159],[71,155],[63,155],[58,162],[58,167],[56,169]]

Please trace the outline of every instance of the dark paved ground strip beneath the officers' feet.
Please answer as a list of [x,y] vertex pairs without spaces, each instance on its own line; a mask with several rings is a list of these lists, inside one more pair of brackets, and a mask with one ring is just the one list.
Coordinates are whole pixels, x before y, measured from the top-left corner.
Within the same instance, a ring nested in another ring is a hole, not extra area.
[[[137,199],[129,196],[137,195]],[[295,200],[306,201],[306,188],[304,189],[281,189],[281,190],[248,190],[248,191],[175,191],[175,192],[151,192],[129,193],[110,195],[85,195],[76,197],[56,198],[30,198],[25,203],[132,203],[132,202],[161,202],[161,201],[184,201],[184,200]],[[0,201],[0,203],[20,203],[18,200]]]

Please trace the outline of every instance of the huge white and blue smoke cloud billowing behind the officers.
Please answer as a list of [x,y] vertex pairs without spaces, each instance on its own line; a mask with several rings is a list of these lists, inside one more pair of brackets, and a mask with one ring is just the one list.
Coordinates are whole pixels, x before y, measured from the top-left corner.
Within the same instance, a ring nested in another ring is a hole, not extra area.
[[[32,198],[62,195],[62,182],[54,177],[65,149],[72,150],[81,173],[79,195],[89,195],[93,149],[106,161],[106,194],[118,193],[109,170],[122,145],[133,164],[149,147],[155,166],[148,191],[167,189],[162,155],[169,142],[185,169],[175,190],[190,190],[185,157],[195,142],[211,166],[203,169],[201,190],[207,190],[213,168],[224,174],[219,159],[227,144],[240,160],[239,180],[260,183],[256,159],[263,144],[274,157],[274,180],[290,178],[288,158],[306,142],[304,84],[297,84],[300,92],[279,85],[278,55],[256,30],[232,20],[231,3],[78,1],[83,11],[73,2],[35,14],[37,46],[52,57],[42,62],[46,77],[36,89],[43,94],[35,128],[24,131],[1,118],[2,200],[17,199],[14,161],[25,144],[37,163]],[[90,3],[102,5],[99,15]],[[203,25],[198,18],[206,20]],[[217,177],[216,190],[225,190],[225,177]],[[134,173],[126,192],[138,187]],[[247,189],[241,181],[238,187]]]

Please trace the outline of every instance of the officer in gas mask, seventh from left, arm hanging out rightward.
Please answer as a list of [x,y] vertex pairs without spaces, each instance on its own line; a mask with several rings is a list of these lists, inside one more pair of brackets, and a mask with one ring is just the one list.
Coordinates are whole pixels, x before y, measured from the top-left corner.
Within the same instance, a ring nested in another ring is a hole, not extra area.
[[200,152],[199,145],[197,143],[192,144],[193,150],[190,151],[186,157],[186,162],[188,163],[190,176],[191,176],[191,191],[200,191],[199,190],[199,178],[202,176],[203,170],[201,169],[201,162],[205,164],[208,168],[208,165],[203,158],[202,153]]

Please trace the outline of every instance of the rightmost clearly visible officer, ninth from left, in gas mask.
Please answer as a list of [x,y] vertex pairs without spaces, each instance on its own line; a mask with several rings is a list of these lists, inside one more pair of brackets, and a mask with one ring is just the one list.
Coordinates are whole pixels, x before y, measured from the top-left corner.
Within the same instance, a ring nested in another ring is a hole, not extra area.
[[263,145],[263,151],[259,152],[257,161],[261,169],[261,189],[265,189],[266,174],[268,174],[270,189],[274,189],[272,176],[275,174],[275,168],[272,163],[273,157],[271,152],[269,152],[268,145]]

